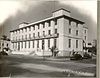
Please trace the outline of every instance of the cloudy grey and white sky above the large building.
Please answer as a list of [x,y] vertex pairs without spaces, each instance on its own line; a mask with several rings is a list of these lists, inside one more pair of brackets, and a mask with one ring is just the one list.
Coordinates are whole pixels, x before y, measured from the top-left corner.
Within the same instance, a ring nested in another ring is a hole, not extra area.
[[35,22],[52,16],[52,12],[64,8],[71,16],[82,20],[89,30],[89,41],[97,37],[96,0],[0,0],[0,35],[10,37],[9,31],[22,22]]

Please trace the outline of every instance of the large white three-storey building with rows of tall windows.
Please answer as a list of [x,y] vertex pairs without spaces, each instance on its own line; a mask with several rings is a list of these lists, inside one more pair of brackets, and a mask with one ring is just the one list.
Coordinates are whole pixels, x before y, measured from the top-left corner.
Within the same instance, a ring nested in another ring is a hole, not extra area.
[[20,24],[18,29],[10,31],[12,50],[51,55],[50,48],[55,46],[59,56],[69,56],[72,50],[82,53],[87,45],[88,28],[70,13],[59,9],[52,12],[52,17]]

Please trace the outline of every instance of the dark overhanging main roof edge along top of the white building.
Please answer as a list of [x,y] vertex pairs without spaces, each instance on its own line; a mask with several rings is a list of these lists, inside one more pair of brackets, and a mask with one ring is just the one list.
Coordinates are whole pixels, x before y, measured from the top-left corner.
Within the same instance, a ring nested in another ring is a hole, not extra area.
[[30,23],[30,24],[27,24],[25,27],[22,27],[22,28],[18,28],[18,29],[15,29],[15,30],[11,30],[10,32],[13,32],[13,31],[16,31],[16,30],[20,30],[20,29],[23,29],[23,28],[27,28],[27,27],[30,27],[32,25],[36,25],[36,24],[39,24],[39,23],[43,23],[45,21],[49,21],[49,20],[54,20],[54,19],[59,19],[59,18],[66,18],[66,19],[69,19],[71,21],[77,21],[78,23],[81,23],[81,24],[84,24],[85,22],[82,22],[80,20],[77,20],[73,17],[69,17],[69,16],[66,16],[66,15],[61,15],[61,16],[58,16],[58,17],[49,17],[49,18],[46,18],[46,19],[43,19],[43,20],[40,20],[40,21],[37,21],[37,22],[34,22],[34,23]]

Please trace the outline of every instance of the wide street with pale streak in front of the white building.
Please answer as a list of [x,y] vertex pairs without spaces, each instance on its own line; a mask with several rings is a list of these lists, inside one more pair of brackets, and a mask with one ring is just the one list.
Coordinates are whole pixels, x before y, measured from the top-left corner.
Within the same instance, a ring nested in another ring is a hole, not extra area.
[[6,77],[94,76],[96,64],[51,58],[9,55],[0,61],[0,75]]

